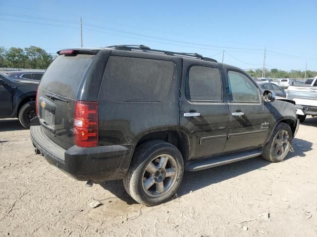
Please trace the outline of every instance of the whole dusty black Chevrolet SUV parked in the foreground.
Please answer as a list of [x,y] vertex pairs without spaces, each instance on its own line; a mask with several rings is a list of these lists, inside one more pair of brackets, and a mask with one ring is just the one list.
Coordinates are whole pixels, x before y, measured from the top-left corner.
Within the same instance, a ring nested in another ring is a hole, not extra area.
[[172,197],[184,170],[283,160],[299,127],[291,101],[199,54],[144,45],[57,53],[38,90],[35,152],[88,184],[123,179],[145,205]]

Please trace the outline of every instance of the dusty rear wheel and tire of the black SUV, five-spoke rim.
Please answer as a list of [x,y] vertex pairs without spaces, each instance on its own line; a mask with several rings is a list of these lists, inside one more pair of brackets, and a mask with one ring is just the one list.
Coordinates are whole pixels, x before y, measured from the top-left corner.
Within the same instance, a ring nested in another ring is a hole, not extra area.
[[170,143],[153,140],[136,148],[123,185],[134,200],[153,206],[174,196],[183,173],[179,150]]

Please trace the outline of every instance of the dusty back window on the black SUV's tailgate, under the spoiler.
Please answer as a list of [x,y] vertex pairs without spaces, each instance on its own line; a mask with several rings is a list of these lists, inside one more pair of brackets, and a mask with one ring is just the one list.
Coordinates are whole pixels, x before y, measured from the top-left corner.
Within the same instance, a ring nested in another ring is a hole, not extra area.
[[58,56],[42,77],[40,87],[71,99],[77,93],[95,55]]

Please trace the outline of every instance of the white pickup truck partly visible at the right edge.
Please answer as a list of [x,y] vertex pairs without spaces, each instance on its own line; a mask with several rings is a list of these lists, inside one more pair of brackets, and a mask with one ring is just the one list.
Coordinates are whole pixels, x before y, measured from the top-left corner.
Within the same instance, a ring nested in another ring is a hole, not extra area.
[[292,85],[286,90],[286,98],[296,103],[296,114],[303,122],[307,115],[317,116],[317,76],[303,85]]

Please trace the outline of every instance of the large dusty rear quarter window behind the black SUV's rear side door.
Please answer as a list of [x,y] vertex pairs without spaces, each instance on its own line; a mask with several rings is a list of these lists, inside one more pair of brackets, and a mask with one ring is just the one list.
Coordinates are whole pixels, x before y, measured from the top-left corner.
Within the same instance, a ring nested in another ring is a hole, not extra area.
[[174,71],[171,61],[110,56],[99,101],[165,101]]

